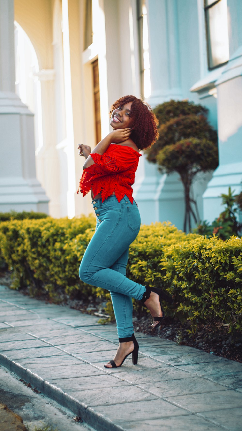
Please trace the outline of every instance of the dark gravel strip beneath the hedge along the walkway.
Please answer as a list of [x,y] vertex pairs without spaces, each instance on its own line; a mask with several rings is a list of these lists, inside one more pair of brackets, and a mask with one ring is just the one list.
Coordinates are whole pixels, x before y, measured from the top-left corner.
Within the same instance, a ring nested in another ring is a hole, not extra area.
[[[0,284],[10,286],[10,273],[0,273]],[[28,290],[21,290],[23,294],[28,294]],[[46,297],[39,297],[40,300],[50,302]],[[63,302],[60,306],[68,306],[78,309],[83,313],[95,314],[105,320],[105,302],[99,298],[88,298],[88,303],[82,300],[71,300],[63,296]],[[135,314],[134,314],[135,315]],[[160,338],[176,341],[177,344],[196,347],[199,350],[221,356],[233,361],[242,362],[242,334],[241,339],[233,343],[231,336],[228,334],[227,326],[218,321],[207,322],[206,325],[200,325],[196,334],[189,336],[189,322],[181,324],[175,319],[169,317],[163,320],[164,324],[160,325],[156,331],[151,328],[152,318],[145,314],[140,318],[134,317],[134,329],[143,334],[155,335]]]

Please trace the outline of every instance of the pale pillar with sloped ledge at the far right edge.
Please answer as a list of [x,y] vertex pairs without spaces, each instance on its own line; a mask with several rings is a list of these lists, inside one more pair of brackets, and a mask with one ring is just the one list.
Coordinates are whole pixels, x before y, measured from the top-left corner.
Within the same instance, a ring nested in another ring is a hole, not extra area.
[[203,195],[204,219],[210,222],[223,210],[220,194],[229,186],[236,194],[242,190],[242,3],[227,0],[227,6],[230,58],[215,82],[219,166]]

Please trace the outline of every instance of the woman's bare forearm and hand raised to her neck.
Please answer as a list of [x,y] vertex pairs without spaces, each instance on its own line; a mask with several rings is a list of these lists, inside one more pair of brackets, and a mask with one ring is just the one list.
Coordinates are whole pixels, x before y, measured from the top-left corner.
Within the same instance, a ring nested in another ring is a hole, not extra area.
[[[132,128],[113,130],[96,145],[96,147],[91,151],[90,154],[97,153],[102,156],[112,142],[118,144],[119,142],[126,141],[127,139],[129,139],[131,132]],[[89,155],[83,165],[83,169],[88,168],[91,165],[94,165],[94,160]]]

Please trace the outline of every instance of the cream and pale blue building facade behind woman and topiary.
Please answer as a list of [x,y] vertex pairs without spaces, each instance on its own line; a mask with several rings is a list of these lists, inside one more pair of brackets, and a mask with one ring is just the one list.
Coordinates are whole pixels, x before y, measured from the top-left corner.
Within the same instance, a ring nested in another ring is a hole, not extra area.
[[[91,213],[90,194],[76,193],[85,161],[77,146],[93,149],[112,130],[108,112],[126,94],[152,107],[174,99],[209,109],[219,166],[195,181],[201,219],[221,212],[219,196],[229,186],[241,191],[241,0],[0,0],[0,20],[8,26],[0,55],[7,52],[11,70],[1,62],[1,147],[11,145],[1,149],[0,211],[48,206],[54,217]],[[9,106],[19,106],[20,126]],[[8,200],[16,182],[22,188]],[[179,178],[161,175],[144,154],[133,196],[141,223],[169,220],[182,228]]]

